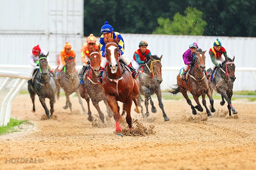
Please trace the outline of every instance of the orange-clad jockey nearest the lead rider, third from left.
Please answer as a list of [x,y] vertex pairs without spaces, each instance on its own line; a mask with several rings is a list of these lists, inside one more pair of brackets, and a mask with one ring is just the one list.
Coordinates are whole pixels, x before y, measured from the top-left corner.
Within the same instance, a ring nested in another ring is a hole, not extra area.
[[84,43],[81,47],[81,50],[80,50],[81,60],[83,61],[84,65],[79,74],[80,80],[83,79],[84,72],[87,69],[87,67],[90,65],[90,55],[91,55],[90,51],[92,49],[99,48],[99,44],[96,43],[96,41],[97,41],[96,37],[94,37],[93,34],[90,34],[90,36],[86,40],[87,43]]

